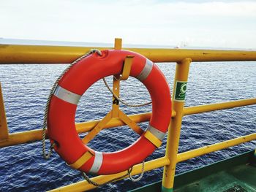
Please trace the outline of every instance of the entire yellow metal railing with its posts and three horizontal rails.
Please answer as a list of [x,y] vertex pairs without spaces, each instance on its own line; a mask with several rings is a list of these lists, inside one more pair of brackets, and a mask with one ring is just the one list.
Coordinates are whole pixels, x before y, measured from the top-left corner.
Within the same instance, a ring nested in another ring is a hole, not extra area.
[[[118,42],[118,41],[116,41]],[[117,46],[117,45],[116,45]],[[115,47],[116,47],[115,46]],[[64,46],[37,46],[37,45],[0,45],[0,64],[64,64],[72,63],[76,58],[87,53],[95,47],[64,47]],[[99,50],[113,49],[113,47],[97,47]],[[117,47],[116,47],[117,48]],[[173,86],[173,115],[170,123],[166,154],[162,158],[157,158],[145,163],[145,171],[157,169],[164,166],[162,180],[162,191],[172,191],[176,164],[186,161],[189,158],[195,158],[199,155],[222,150],[227,147],[239,145],[256,139],[255,134],[249,134],[244,137],[230,139],[225,142],[219,142],[214,145],[200,147],[195,150],[189,150],[178,154],[178,142],[181,132],[181,122],[184,115],[192,115],[214,110],[225,110],[234,107],[256,104],[256,98],[230,101],[219,104],[206,104],[195,107],[184,107],[184,100],[175,99],[177,82],[187,82],[189,76],[189,64],[192,61],[256,61],[256,51],[238,51],[238,50],[180,50],[180,49],[145,49],[145,48],[126,48],[132,50],[154,62],[177,62],[176,77]],[[135,123],[145,122],[151,118],[151,113],[142,113],[129,115],[128,118]],[[100,120],[93,120],[84,123],[77,123],[78,133],[91,131]],[[123,126],[120,118],[112,118],[105,128]],[[9,134],[7,120],[4,112],[4,101],[1,94],[0,85],[0,147],[18,145],[26,142],[33,142],[42,139],[42,130],[23,131],[20,133]],[[171,161],[170,161],[171,159]],[[134,166],[132,175],[141,172],[142,164]],[[97,183],[107,183],[114,178],[124,175],[125,172],[110,175],[101,175],[92,178]],[[53,191],[86,191],[95,188],[94,185],[81,181]]]

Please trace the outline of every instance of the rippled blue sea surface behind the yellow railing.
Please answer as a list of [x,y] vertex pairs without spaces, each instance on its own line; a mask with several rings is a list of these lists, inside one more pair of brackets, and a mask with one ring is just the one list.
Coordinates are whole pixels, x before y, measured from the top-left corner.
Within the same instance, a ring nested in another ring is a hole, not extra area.
[[[157,64],[165,74],[172,90],[175,73],[174,63]],[[0,66],[0,81],[4,94],[10,133],[42,128],[45,104],[50,88],[67,64],[13,64]],[[107,78],[112,86],[112,77]],[[191,64],[187,87],[186,107],[249,99],[256,96],[256,62],[195,62]],[[129,103],[150,100],[141,82],[129,77],[121,82],[121,98]],[[102,80],[84,93],[76,122],[103,118],[111,109],[112,97]],[[151,105],[130,108],[121,104],[128,115],[151,112]],[[139,124],[145,129],[148,123]],[[256,106],[206,112],[185,116],[179,153],[197,147],[222,142],[256,130]],[[81,137],[84,134],[80,135]],[[101,131],[89,146],[94,150],[113,152],[131,145],[138,135],[127,126]],[[187,172],[215,161],[255,149],[256,142],[230,147],[215,153],[192,158],[177,165],[176,173]],[[72,145],[72,144],[70,144]],[[163,145],[149,161],[165,155],[166,137]],[[162,168],[146,172],[143,179],[133,183],[124,179],[100,186],[94,191],[128,191],[133,188],[162,180]],[[42,157],[42,142],[0,148],[0,191],[48,191],[83,180],[80,172],[69,166],[53,153],[49,160]]]

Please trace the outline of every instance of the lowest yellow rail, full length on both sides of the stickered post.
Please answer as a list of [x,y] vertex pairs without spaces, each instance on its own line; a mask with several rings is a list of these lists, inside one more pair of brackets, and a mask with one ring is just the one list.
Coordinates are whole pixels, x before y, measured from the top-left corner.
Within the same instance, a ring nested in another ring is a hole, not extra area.
[[[216,150],[222,150],[227,147],[232,147],[235,145],[239,145],[244,142],[249,142],[256,139],[256,134],[249,134],[243,137],[238,137],[236,139],[230,139],[225,142],[219,142],[214,145],[208,145],[206,147],[200,147],[195,150],[189,150],[184,153],[179,153],[177,155],[177,163],[181,161],[186,161],[189,158],[195,158],[200,155],[205,155],[207,153],[214,152]],[[152,161],[148,161],[145,163],[145,171],[150,171],[152,169],[157,169],[159,167],[165,166],[167,164],[170,164],[170,161],[167,157],[157,158]],[[134,166],[134,172],[132,172],[132,175],[134,174],[140,174],[141,173],[142,164],[138,164]],[[97,177],[93,177],[91,180],[93,180],[96,183],[108,183],[110,180],[113,180],[117,177],[121,177],[122,175],[126,174],[126,172],[121,172],[118,174],[109,174],[109,175],[100,175]],[[55,191],[87,191],[90,189],[96,188],[94,185],[89,184],[87,181],[80,181],[78,183],[72,183],[71,185],[66,185],[61,188],[56,188],[52,190],[51,192]]]

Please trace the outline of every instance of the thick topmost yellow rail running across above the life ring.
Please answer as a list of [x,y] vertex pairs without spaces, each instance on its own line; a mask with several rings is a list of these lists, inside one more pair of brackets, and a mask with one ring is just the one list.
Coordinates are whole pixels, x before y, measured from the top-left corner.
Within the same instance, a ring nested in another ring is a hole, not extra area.
[[[46,45],[0,45],[0,64],[70,64],[92,48]],[[177,62],[184,58],[192,61],[256,61],[256,51],[250,50],[188,50],[124,48],[140,53],[154,62]]]

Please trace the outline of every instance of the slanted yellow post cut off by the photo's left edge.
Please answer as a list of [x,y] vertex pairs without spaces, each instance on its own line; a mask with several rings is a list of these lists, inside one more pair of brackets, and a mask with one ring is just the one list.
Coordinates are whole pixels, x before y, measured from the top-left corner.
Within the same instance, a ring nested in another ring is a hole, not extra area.
[[1,82],[0,82],[0,140],[8,139],[9,132],[7,126],[7,117],[4,110],[4,98],[1,92]]

